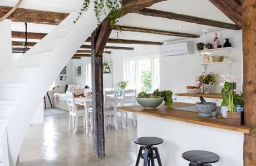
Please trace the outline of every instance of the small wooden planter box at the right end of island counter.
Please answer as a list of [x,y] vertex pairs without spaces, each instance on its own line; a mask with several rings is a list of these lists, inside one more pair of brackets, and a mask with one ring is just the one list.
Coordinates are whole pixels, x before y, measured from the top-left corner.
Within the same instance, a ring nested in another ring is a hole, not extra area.
[[241,126],[244,123],[244,112],[227,112],[227,125]]

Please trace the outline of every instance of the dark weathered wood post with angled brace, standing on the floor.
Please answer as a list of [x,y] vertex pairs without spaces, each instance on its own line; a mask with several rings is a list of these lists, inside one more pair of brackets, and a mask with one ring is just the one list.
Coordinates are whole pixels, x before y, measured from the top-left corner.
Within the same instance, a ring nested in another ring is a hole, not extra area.
[[105,156],[102,53],[111,30],[110,19],[106,18],[101,27],[91,34],[93,140],[97,158]]

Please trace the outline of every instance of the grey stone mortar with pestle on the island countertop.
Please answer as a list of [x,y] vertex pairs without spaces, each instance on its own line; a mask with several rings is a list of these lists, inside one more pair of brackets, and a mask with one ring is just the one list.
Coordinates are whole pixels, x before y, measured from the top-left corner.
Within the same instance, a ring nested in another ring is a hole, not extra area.
[[217,104],[215,102],[206,102],[203,96],[200,96],[200,100],[201,102],[195,103],[195,107],[199,113],[199,116],[213,117],[215,119],[219,115],[219,111],[216,111]]

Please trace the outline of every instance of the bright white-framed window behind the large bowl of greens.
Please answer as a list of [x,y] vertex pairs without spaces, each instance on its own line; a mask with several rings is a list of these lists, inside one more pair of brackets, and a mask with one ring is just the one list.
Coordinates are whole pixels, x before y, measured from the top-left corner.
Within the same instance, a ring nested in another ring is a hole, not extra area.
[[127,89],[137,92],[160,89],[159,56],[124,59],[124,80],[129,81]]

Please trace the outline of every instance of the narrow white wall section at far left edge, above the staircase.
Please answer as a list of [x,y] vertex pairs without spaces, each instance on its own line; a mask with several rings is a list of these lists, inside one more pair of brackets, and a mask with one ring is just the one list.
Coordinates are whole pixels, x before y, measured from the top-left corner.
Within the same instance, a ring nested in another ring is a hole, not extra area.
[[4,19],[0,22],[0,72],[12,63],[11,23],[9,19]]

